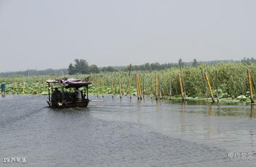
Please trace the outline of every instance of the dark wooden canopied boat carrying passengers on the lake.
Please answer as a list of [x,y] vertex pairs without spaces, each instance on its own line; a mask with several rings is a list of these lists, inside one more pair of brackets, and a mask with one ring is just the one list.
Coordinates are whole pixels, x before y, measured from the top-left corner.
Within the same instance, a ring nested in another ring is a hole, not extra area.
[[[47,80],[46,82],[48,83],[49,95],[46,102],[50,107],[87,107],[90,102],[88,98],[88,86],[92,84],[92,82],[68,78]],[[59,88],[61,91],[58,90]],[[83,90],[80,91],[79,88],[83,88]],[[55,91],[53,89],[55,89]],[[76,89],[76,91],[73,91],[74,89]],[[81,98],[77,98],[79,91]]]

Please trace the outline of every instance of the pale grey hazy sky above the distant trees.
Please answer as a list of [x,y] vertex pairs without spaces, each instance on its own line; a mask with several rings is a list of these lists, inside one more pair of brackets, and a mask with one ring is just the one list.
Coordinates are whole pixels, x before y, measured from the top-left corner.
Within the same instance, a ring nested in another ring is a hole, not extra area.
[[256,57],[256,1],[0,0],[0,72]]

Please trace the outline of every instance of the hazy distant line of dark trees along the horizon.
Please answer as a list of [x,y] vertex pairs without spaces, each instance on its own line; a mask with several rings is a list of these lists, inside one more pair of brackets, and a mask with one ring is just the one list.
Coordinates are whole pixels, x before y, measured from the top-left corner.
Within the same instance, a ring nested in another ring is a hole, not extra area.
[[[245,64],[256,63],[256,59],[253,57],[246,58],[244,57],[241,61],[233,60],[216,60],[216,61],[207,61],[207,62],[198,62],[194,59],[192,62],[182,62],[183,66],[195,66],[197,67],[201,63],[208,63],[210,65],[217,64],[219,62],[241,62]],[[178,63],[145,63],[142,65],[131,65],[131,71],[146,71],[146,70],[164,70],[169,68],[178,68]],[[127,66],[104,66],[99,68],[95,64],[89,65],[89,63],[84,59],[76,59],[75,63],[70,63],[68,69],[46,69],[46,70],[25,70],[25,71],[15,71],[15,72],[0,72],[0,77],[9,77],[9,76],[36,76],[36,75],[61,75],[61,74],[89,74],[89,73],[100,73],[100,72],[114,72],[114,71],[129,71],[130,65]]]

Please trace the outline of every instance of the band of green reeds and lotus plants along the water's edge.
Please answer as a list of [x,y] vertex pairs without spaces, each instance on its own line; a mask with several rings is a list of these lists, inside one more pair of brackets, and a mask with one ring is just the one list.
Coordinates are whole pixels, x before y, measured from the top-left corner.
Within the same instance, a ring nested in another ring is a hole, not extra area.
[[[254,62],[199,63],[195,66],[181,65],[181,68],[179,68],[179,66],[173,66],[172,68],[164,70],[119,70],[91,74],[51,74],[30,77],[10,76],[0,77],[0,83],[5,84],[6,95],[45,95],[48,93],[48,85],[46,84],[46,80],[48,79],[64,77],[84,79],[85,77],[91,76],[90,81],[93,84],[89,86],[89,93],[93,95],[121,94],[130,96],[131,93],[131,96],[138,96],[138,94],[142,96],[143,94],[155,98],[157,91],[158,99],[182,99],[182,88],[183,91],[186,91],[186,95],[183,93],[183,96],[185,95],[187,100],[206,101],[207,98],[209,101],[212,101],[210,90],[207,87],[206,78],[204,76],[206,72],[215,101],[217,101],[218,98],[220,102],[251,102],[247,69],[251,71],[252,92],[255,94],[256,63]],[[183,86],[180,85],[179,75],[183,78]],[[139,87],[137,86],[138,84]],[[137,89],[140,91],[138,92]]]

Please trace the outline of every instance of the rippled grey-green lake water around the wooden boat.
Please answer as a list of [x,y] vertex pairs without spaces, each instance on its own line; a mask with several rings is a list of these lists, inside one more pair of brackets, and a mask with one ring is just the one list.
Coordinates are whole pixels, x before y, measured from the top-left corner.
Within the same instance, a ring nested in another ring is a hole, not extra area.
[[[256,166],[248,104],[92,96],[104,102],[57,110],[46,98],[0,99],[0,166]],[[228,153],[252,155],[230,162]],[[3,163],[12,157],[26,164]]]

